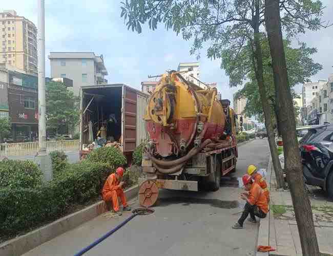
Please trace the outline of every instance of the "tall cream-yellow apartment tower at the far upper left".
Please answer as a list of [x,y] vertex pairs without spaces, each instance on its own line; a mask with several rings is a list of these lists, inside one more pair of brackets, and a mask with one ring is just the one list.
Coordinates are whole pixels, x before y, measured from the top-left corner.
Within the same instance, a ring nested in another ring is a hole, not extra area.
[[0,13],[0,63],[37,74],[37,28],[14,10]]

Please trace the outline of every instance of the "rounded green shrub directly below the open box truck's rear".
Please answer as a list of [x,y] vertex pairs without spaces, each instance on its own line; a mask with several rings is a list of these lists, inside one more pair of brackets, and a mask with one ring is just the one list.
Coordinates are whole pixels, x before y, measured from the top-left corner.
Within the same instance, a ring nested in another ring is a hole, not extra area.
[[107,163],[112,169],[127,163],[126,157],[115,147],[100,147],[91,152],[87,161]]

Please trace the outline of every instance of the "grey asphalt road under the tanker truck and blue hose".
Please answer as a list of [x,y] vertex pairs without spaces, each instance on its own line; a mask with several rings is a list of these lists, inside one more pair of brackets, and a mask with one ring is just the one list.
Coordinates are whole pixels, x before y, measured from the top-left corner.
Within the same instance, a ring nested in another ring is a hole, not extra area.
[[[248,164],[266,168],[266,139],[239,147],[232,175],[241,177]],[[225,184],[214,193],[163,190],[154,214],[135,217],[85,255],[255,255],[258,224],[245,222],[244,229],[231,228],[242,210],[241,191]],[[138,206],[137,201],[132,203]],[[129,216],[101,215],[24,255],[74,255]]]

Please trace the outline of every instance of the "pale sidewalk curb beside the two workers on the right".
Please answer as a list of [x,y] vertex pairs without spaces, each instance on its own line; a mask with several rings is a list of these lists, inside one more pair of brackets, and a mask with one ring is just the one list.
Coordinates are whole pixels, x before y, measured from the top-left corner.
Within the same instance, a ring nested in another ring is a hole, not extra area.
[[[272,176],[272,157],[269,156],[269,161],[267,165],[267,176],[266,176],[266,182],[268,191],[270,191],[270,177]],[[270,204],[269,204],[270,205]],[[256,246],[256,255],[257,256],[268,256],[269,252],[259,252],[257,251],[257,247],[259,245],[269,245],[269,218],[270,218],[270,210],[268,211],[268,214],[266,218],[260,219],[259,222],[259,232],[258,232],[258,240],[257,240],[257,246]]]

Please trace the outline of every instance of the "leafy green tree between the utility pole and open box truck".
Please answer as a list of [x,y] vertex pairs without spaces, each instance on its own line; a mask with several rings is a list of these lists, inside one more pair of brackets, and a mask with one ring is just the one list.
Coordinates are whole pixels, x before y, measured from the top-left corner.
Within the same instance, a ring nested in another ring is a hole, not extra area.
[[73,92],[61,82],[51,81],[46,88],[47,129],[55,133],[60,129],[73,130],[79,119],[77,99]]

